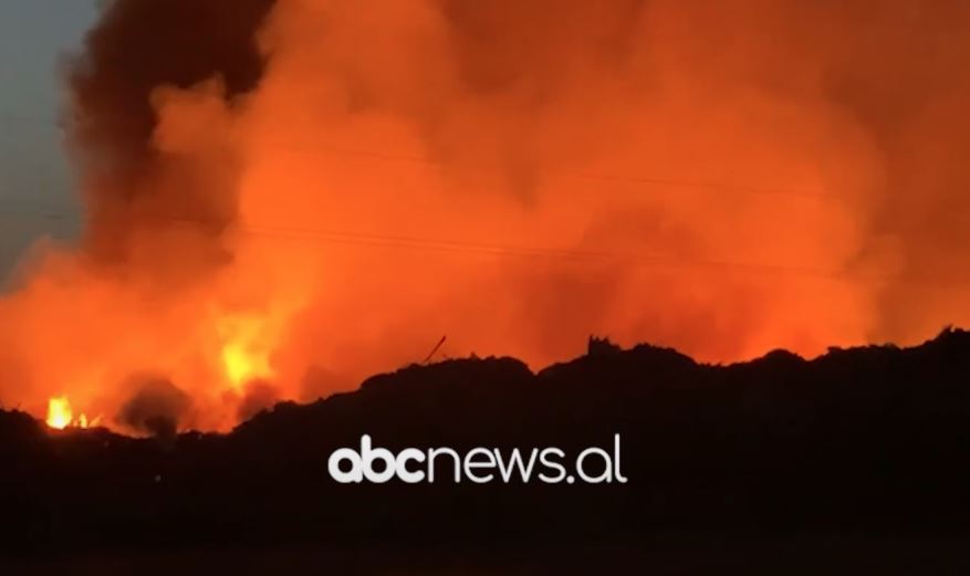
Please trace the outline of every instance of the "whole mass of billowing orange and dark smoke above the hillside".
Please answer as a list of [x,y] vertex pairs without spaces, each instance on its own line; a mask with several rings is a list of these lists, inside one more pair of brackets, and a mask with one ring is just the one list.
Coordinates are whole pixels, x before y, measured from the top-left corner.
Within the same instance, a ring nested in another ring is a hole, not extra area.
[[70,75],[84,242],[0,303],[0,396],[117,413],[148,371],[225,428],[441,335],[538,367],[590,334],[724,362],[966,324],[968,24],[942,0],[116,0]]

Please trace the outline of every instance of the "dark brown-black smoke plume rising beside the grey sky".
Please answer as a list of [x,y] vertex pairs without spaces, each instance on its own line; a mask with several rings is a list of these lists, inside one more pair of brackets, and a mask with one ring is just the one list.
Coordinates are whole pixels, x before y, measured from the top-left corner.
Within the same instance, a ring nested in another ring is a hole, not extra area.
[[[199,178],[191,174],[190,166],[178,166],[178,159],[156,153],[153,97],[160,86],[189,88],[211,78],[222,83],[229,100],[255,87],[264,65],[255,33],[274,3],[107,2],[101,21],[87,34],[83,55],[72,63],[69,73],[72,144],[87,179],[85,193],[92,224],[87,227],[88,241],[97,254],[124,254],[137,220],[135,211],[161,219],[204,220],[217,227],[231,220],[231,198],[229,202],[213,202],[211,199],[219,195],[199,189],[211,187],[210,179]],[[160,172],[180,174],[182,186],[157,186]],[[138,197],[152,195],[168,197],[154,198],[148,206],[137,201]],[[119,198],[131,202],[119,203]]]

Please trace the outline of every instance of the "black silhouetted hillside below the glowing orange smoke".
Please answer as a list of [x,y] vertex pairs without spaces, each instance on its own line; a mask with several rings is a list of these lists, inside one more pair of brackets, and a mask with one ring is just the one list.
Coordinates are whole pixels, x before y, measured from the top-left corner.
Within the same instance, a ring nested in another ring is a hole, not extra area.
[[[362,433],[571,454],[620,433],[629,482],[335,483],[327,457]],[[228,436],[51,433],[0,413],[13,574],[968,574],[968,494],[961,331],[728,367],[598,342],[539,374],[453,360]]]

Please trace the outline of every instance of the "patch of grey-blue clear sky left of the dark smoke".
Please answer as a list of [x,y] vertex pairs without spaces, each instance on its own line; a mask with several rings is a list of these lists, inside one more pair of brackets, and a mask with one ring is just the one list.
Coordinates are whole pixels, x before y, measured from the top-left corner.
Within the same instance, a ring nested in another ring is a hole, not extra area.
[[76,228],[60,67],[95,15],[96,0],[0,1],[0,279],[32,241]]

